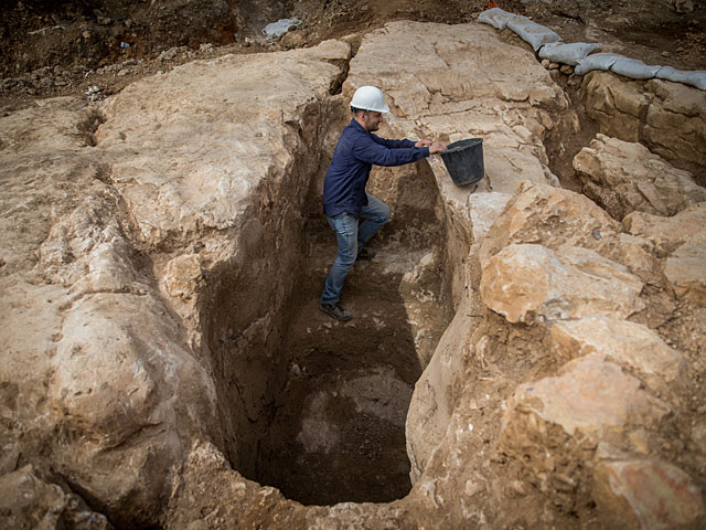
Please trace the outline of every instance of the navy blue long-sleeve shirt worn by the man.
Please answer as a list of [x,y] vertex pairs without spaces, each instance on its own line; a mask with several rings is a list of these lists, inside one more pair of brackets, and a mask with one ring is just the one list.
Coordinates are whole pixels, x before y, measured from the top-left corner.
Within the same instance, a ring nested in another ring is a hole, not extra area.
[[428,156],[428,147],[381,138],[352,119],[341,132],[323,181],[323,212],[329,216],[347,212],[359,218],[367,204],[365,184],[373,165],[403,166]]

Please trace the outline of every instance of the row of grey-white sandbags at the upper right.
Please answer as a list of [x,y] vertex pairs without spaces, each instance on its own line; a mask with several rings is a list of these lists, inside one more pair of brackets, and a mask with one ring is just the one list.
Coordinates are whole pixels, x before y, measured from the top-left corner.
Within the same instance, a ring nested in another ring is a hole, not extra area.
[[512,30],[535,52],[538,52],[539,57],[548,59],[555,63],[570,64],[575,66],[574,73],[578,75],[585,75],[591,70],[605,70],[633,80],[657,77],[706,91],[706,72],[684,72],[671,66],[651,66],[637,59],[628,59],[617,53],[592,53],[601,47],[600,44],[588,42],[566,44],[557,33],[548,28],[533,22],[527,17],[509,13],[500,8],[483,11],[478,21],[490,24],[496,30],[505,28]]

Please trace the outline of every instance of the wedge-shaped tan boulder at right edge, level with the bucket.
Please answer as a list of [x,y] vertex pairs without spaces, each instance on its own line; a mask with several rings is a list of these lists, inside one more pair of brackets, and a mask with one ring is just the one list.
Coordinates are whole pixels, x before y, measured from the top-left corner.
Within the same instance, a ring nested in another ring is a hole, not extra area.
[[574,158],[574,168],[587,194],[618,220],[634,211],[674,215],[706,201],[706,189],[691,173],[673,168],[641,144],[599,134]]

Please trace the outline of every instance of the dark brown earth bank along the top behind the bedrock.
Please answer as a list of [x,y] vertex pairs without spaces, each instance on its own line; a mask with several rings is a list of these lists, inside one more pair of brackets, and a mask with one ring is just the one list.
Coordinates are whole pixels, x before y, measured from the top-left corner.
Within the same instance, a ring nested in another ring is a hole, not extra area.
[[[601,42],[648,64],[706,68],[706,2],[694,2],[688,13],[659,0],[498,3],[552,28],[566,42]],[[0,110],[58,95],[96,100],[194,59],[311,46],[394,20],[470,22],[486,7],[479,0],[6,1]],[[277,43],[266,42],[266,24],[295,17],[302,20],[298,29]],[[511,31],[503,33],[525,45]]]

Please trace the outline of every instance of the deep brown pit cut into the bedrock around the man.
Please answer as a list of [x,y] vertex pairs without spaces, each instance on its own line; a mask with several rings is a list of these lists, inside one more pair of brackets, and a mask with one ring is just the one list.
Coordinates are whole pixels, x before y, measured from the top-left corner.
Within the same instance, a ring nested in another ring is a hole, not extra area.
[[248,267],[221,280],[210,350],[223,445],[245,477],[304,505],[385,502],[411,487],[407,410],[451,317],[442,206],[426,162],[374,170],[368,191],[393,220],[371,242],[376,258],[346,279],[353,320],[335,321],[319,310],[336,246],[321,213],[327,163],[309,168],[307,214],[282,223],[290,248],[249,264],[270,282],[253,276],[244,292]]

